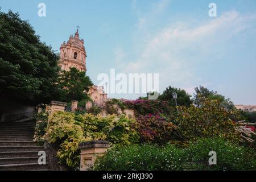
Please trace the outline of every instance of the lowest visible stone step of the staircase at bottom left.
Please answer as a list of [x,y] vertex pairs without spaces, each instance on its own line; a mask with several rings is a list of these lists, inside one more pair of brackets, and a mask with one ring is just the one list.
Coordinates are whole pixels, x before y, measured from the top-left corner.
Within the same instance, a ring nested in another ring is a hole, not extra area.
[[48,170],[49,166],[39,165],[38,163],[30,163],[30,164],[5,164],[0,165],[0,171],[28,171],[28,170]]

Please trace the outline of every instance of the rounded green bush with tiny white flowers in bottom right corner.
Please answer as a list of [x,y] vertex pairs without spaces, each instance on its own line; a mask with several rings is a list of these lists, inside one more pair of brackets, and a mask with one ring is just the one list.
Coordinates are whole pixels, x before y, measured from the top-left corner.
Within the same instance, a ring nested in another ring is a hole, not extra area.
[[[217,154],[217,165],[209,166],[210,151]],[[250,148],[221,138],[200,139],[185,149],[188,169],[192,170],[255,170],[256,155]]]

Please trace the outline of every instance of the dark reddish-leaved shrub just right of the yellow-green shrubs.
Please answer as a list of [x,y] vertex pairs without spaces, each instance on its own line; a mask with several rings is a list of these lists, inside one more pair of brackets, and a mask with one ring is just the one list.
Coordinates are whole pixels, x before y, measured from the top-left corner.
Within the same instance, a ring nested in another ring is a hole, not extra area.
[[141,142],[163,144],[172,139],[175,125],[159,115],[140,115],[137,122]]

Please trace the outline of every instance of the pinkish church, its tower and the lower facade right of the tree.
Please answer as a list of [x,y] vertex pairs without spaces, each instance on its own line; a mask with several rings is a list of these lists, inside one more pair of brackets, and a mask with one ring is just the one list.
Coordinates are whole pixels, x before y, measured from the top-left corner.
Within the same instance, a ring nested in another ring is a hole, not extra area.
[[[79,30],[77,30],[75,36],[69,36],[68,42],[61,44],[59,66],[64,71],[69,71],[73,67],[79,71],[86,71],[86,57],[84,39],[79,38]],[[102,86],[91,86],[88,96],[98,106],[104,106],[108,100],[108,95],[104,93]]]

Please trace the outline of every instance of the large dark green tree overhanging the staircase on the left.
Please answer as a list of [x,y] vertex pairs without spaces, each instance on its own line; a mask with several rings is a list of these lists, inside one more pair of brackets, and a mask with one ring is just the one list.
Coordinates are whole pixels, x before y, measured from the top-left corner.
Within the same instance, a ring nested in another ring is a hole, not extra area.
[[27,104],[58,99],[59,56],[18,13],[0,11],[0,97]]

